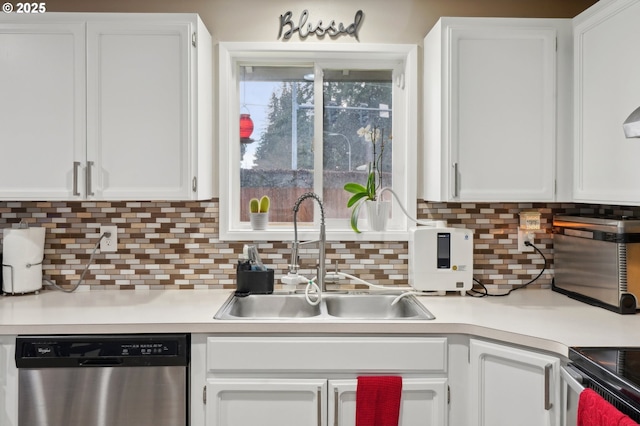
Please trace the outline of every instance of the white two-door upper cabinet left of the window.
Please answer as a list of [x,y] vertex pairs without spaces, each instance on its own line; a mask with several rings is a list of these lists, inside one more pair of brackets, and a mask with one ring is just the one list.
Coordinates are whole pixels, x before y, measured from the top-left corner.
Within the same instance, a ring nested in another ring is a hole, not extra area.
[[211,198],[212,39],[197,15],[30,18],[0,21],[0,76],[20,76],[0,137],[21,142],[0,199]]

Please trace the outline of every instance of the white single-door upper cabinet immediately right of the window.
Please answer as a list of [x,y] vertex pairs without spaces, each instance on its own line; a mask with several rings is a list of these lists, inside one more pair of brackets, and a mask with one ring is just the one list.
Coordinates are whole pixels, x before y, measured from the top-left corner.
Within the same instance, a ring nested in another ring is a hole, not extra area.
[[424,41],[426,200],[554,200],[556,43],[567,31],[556,19],[437,22]]

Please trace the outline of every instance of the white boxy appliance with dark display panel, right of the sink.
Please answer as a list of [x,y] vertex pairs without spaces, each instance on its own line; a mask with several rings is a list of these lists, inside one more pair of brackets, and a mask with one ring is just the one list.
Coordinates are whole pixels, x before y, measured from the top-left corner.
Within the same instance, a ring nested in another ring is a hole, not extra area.
[[473,286],[473,231],[419,226],[409,238],[409,285],[418,291],[459,291]]

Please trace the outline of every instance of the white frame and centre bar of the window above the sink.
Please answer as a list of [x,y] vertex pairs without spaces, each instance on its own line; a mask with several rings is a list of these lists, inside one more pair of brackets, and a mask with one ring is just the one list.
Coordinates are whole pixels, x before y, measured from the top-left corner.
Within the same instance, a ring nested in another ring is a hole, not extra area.
[[[418,157],[416,45],[226,42],[220,43],[218,49],[219,238],[221,241],[287,241],[293,238],[293,223],[290,226],[270,225],[264,231],[254,231],[248,222],[240,222],[240,150],[232,149],[234,145],[231,143],[240,138],[236,113],[240,109],[239,64],[292,66],[313,64],[316,74],[321,73],[323,68],[334,68],[338,64],[344,68],[393,69],[393,190],[408,212],[416,211]],[[318,97],[322,94],[322,89],[322,80],[316,79],[315,99],[322,100],[322,96]],[[315,114],[313,144],[316,152],[322,150],[322,130],[322,114]],[[395,145],[397,141],[403,143]],[[234,164],[236,167],[232,166]],[[319,155],[314,158],[314,168],[318,167],[322,169],[322,160]],[[314,186],[317,187],[317,185],[319,183],[314,182]],[[319,194],[322,196],[321,192]],[[402,213],[395,199],[392,206],[393,222],[390,222],[388,230],[363,231],[357,234],[351,230],[347,219],[340,220],[340,226],[336,226],[337,220],[327,220],[327,240],[407,241],[409,226],[412,223]],[[302,240],[317,238],[320,211],[317,205],[314,208],[314,224],[309,226],[298,224],[298,236]]]

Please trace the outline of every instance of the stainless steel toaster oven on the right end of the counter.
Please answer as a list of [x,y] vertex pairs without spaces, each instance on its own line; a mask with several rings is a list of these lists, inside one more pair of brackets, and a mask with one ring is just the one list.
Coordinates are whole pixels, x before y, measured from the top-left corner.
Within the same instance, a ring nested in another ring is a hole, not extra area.
[[621,314],[640,301],[640,218],[555,216],[552,289]]

